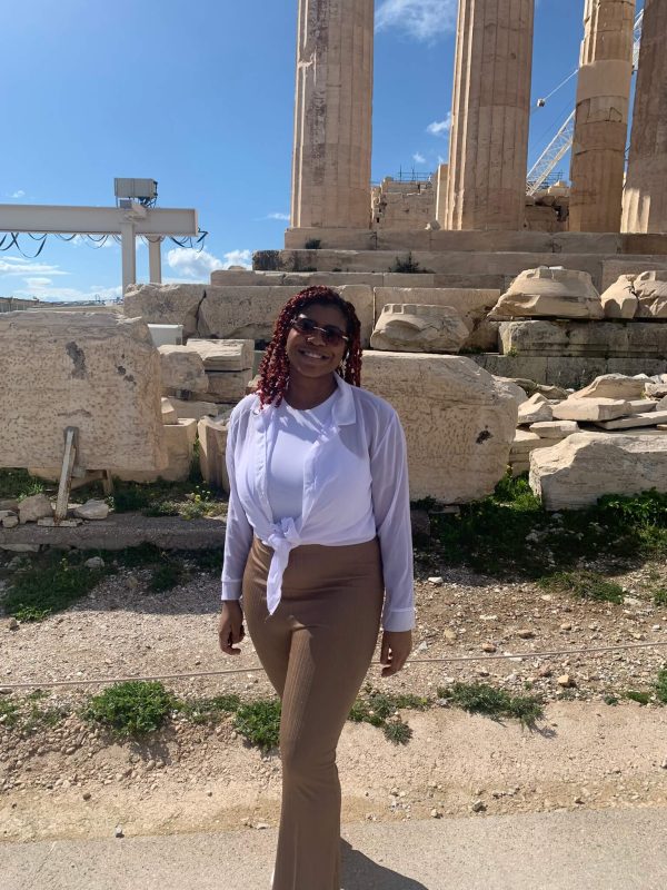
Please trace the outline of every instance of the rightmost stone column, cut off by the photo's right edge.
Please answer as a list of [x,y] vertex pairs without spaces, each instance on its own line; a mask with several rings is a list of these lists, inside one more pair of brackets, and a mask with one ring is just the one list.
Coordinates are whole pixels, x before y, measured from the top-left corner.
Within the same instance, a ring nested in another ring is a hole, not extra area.
[[667,3],[646,0],[623,231],[667,233]]

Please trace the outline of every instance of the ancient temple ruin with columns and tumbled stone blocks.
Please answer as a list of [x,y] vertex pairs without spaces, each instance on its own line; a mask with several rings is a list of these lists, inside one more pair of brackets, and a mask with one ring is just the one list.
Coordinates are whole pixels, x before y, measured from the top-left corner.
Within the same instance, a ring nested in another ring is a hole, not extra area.
[[[229,414],[252,388],[273,319],[297,290],[325,284],[361,320],[364,384],[404,422],[412,497],[459,504],[508,467],[530,471],[549,508],[667,491],[667,12],[659,0],[643,13],[635,0],[586,0],[583,13],[571,186],[527,179],[534,0],[459,0],[448,164],[371,185],[374,2],[300,0],[283,249],[201,284],[130,286],[125,320],[86,316],[77,337],[41,314],[0,316],[6,379],[36,337],[53,380],[67,377],[61,392],[41,387],[30,416],[24,370],[0,396],[20,419],[0,463],[56,477],[62,428],[77,421],[90,467],[185,479],[198,439],[203,478],[227,487]],[[177,326],[178,338],[153,347],[147,325]],[[130,389],[136,402],[119,409]],[[110,394],[113,411],[90,425]],[[122,447],[119,411],[131,427]],[[49,425],[39,444],[36,412]],[[591,469],[599,459],[611,488]],[[6,528],[20,521],[9,513]]]

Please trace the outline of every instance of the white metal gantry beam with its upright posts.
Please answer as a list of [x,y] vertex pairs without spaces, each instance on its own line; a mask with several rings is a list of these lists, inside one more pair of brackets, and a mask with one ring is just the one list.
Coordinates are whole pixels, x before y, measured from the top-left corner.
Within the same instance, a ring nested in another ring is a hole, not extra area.
[[120,235],[122,291],[137,281],[138,235],[148,240],[150,280],[162,280],[160,245],[163,237],[199,233],[197,210],[142,207],[58,207],[0,204],[0,231],[47,235]]

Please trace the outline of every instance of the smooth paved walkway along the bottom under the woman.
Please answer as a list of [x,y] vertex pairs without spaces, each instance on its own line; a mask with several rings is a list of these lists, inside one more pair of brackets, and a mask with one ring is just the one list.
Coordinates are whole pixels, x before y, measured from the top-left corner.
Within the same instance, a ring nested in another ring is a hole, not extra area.
[[[665,890],[666,829],[666,809],[345,825],[344,888]],[[275,844],[275,829],[4,843],[0,890],[266,890]]]

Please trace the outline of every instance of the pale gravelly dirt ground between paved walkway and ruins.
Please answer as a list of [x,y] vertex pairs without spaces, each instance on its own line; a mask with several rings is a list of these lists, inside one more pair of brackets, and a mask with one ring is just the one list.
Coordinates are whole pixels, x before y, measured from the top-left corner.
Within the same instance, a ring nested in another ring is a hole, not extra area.
[[[418,572],[411,663],[391,680],[381,680],[374,664],[368,681],[435,699],[439,685],[484,679],[542,696],[546,719],[529,731],[435,705],[402,713],[414,736],[399,746],[374,726],[348,723],[338,755],[345,821],[667,805],[667,708],[606,703],[650,689],[667,662],[667,607],[655,605],[651,593],[666,585],[665,565],[617,577],[623,605],[460,568],[437,571],[437,584],[426,580],[436,574],[432,565]],[[121,570],[41,623],[10,630],[2,620],[0,690],[11,694],[11,684],[28,681],[229,670],[237,672],[165,684],[180,696],[271,694],[249,641],[233,661],[217,647],[215,577],[200,574],[161,594],[147,591],[148,577]],[[460,661],[431,661],[438,659]],[[567,689],[559,683],[565,674]],[[97,688],[60,688],[40,704],[76,706],[91,691]],[[231,720],[198,726],[177,718],[149,742],[123,744],[76,713],[24,738],[0,724],[3,840],[112,837],[119,825],[127,835],[241,823],[261,829],[277,824],[279,791],[277,752],[262,756],[249,748]]]

